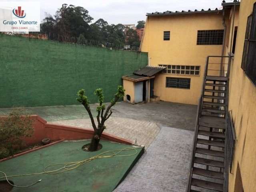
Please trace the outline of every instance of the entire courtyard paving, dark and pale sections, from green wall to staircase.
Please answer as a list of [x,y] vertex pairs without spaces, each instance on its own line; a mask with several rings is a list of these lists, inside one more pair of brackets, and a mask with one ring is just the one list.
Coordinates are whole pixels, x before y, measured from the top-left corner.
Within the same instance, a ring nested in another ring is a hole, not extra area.
[[[91,105],[94,117],[96,104]],[[196,120],[195,105],[171,102],[119,102],[106,133],[146,146],[144,154],[114,192],[185,192]],[[27,108],[48,122],[91,128],[81,105]],[[10,109],[0,109],[6,115]]]

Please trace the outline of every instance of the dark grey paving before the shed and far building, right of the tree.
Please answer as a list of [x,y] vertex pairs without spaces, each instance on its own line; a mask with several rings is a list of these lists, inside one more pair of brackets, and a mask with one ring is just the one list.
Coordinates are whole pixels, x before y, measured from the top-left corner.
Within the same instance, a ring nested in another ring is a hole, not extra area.
[[113,116],[151,121],[186,130],[194,131],[195,128],[196,105],[163,101],[136,105],[120,102],[113,109]]

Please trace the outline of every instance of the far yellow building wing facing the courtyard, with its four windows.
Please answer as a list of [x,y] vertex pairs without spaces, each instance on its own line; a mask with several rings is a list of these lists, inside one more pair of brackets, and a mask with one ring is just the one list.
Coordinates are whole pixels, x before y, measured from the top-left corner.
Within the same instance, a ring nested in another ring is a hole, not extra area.
[[149,66],[166,66],[154,80],[160,100],[198,104],[206,57],[222,54],[223,10],[147,14],[141,51]]

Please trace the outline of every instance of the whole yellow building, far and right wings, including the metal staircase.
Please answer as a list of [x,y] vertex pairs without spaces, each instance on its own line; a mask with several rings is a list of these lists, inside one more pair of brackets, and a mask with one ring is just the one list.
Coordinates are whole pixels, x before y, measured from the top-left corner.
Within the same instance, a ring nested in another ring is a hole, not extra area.
[[140,47],[166,67],[148,80],[154,96],[199,104],[188,192],[256,192],[256,0],[222,6],[147,14]]

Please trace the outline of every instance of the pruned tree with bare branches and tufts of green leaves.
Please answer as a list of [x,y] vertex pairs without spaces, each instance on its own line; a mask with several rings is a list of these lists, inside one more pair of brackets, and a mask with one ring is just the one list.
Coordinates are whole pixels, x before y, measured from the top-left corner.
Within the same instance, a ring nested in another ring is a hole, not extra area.
[[104,96],[103,96],[103,90],[102,88],[98,88],[94,91],[94,95],[98,96],[98,106],[96,108],[97,111],[97,122],[98,125],[96,126],[96,123],[94,122],[94,118],[92,116],[92,112],[90,109],[90,102],[88,100],[88,97],[85,95],[84,89],[79,90],[77,95],[79,98],[78,102],[80,102],[86,111],[88,112],[90,116],[90,120],[92,122],[92,127],[94,129],[94,136],[92,137],[92,140],[90,142],[89,150],[90,151],[96,151],[98,148],[98,144],[100,142],[100,137],[102,135],[102,132],[106,129],[106,126],[104,125],[106,120],[110,118],[112,114],[111,108],[116,104],[116,102],[124,96],[124,88],[122,86],[117,87],[117,92],[115,94],[115,97],[111,100],[109,106],[106,108],[106,105],[103,103],[104,102]]

